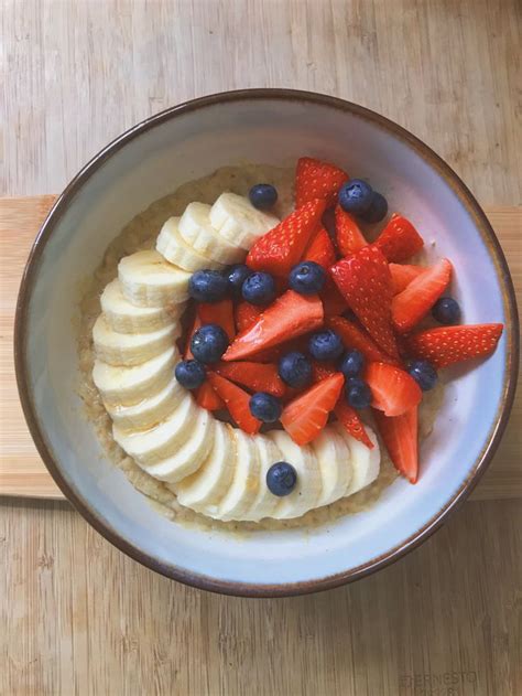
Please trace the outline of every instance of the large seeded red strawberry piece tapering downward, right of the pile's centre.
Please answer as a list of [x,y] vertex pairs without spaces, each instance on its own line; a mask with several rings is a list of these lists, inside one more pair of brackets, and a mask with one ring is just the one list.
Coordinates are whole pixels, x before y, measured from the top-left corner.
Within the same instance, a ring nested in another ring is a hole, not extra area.
[[330,267],[340,293],[376,343],[398,357],[391,321],[392,280],[387,259],[374,246],[366,246]]

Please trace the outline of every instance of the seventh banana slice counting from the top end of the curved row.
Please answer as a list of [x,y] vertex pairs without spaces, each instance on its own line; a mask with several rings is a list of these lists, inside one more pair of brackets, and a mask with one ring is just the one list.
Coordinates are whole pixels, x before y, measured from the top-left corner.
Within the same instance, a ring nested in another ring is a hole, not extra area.
[[96,360],[93,379],[107,407],[132,406],[156,394],[171,381],[178,356],[177,349],[171,345],[160,355],[133,367],[109,365]]

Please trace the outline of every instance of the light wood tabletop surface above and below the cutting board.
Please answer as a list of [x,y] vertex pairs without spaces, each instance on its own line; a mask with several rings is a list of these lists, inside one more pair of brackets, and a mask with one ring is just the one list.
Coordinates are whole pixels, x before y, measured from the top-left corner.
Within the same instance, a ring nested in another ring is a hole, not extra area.
[[[516,0],[0,3],[0,193],[58,191],[110,138],[202,94],[352,99],[521,202]],[[338,590],[242,600],[170,582],[66,503],[0,503],[0,694],[522,693],[520,501],[468,503]]]

